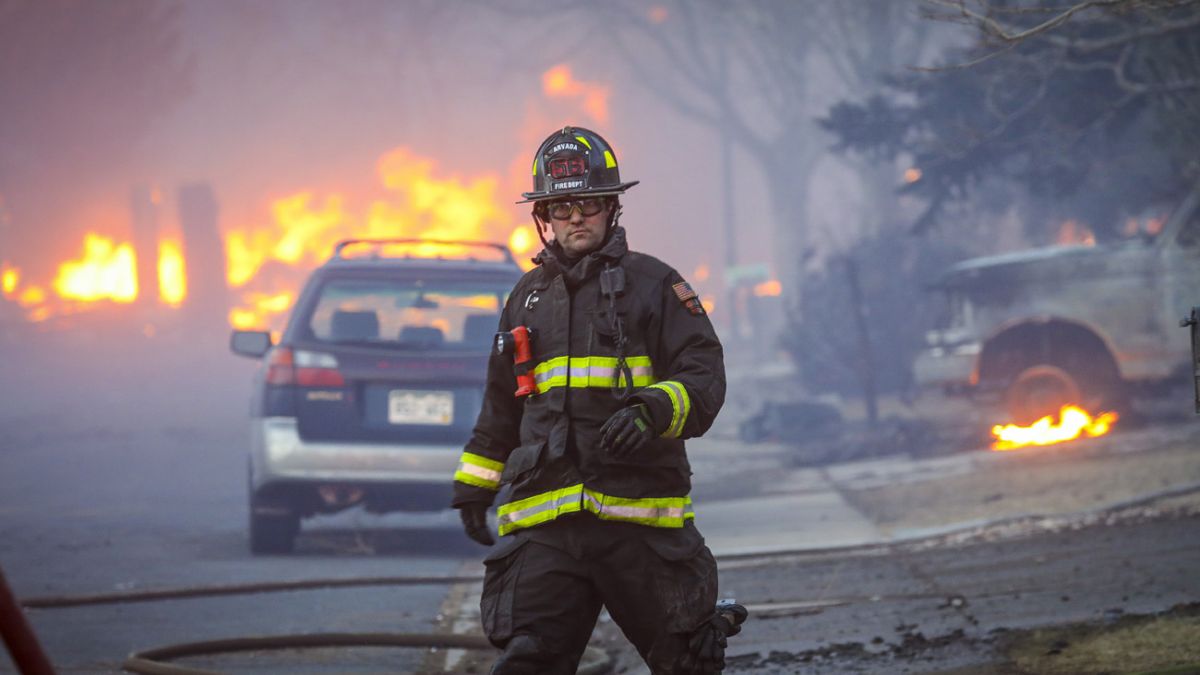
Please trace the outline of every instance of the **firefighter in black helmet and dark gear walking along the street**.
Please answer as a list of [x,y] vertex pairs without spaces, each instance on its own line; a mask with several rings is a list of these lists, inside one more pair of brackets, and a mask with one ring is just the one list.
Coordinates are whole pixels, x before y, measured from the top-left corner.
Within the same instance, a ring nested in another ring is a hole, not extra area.
[[[493,674],[575,673],[601,608],[655,674],[720,671],[736,631],[714,615],[716,563],[692,522],[684,452],[724,402],[721,344],[688,282],[629,250],[619,196],[634,185],[604,138],[566,127],[538,149],[518,202],[533,203],[545,249],[498,341],[523,327],[532,358],[493,353],[454,484],[485,545],[502,495],[480,603],[503,650]],[[514,394],[518,376],[528,395]]]

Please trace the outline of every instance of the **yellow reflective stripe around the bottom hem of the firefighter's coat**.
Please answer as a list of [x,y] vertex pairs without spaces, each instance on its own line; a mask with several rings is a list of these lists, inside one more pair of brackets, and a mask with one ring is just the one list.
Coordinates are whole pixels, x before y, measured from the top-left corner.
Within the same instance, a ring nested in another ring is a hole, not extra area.
[[696,516],[690,496],[613,497],[578,484],[503,504],[497,509],[500,536],[580,510],[592,512],[604,520],[650,527],[683,527],[684,522]]

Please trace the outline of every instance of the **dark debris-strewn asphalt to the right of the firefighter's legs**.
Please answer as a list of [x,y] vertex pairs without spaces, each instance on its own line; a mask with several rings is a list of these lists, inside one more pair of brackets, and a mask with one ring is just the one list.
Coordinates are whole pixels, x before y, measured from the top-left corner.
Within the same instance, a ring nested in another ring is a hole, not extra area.
[[[943,673],[997,662],[1009,631],[1200,602],[1200,516],[1144,513],[954,545],[722,561],[721,596],[751,608],[727,671]],[[617,655],[617,673],[646,673],[613,625],[594,644]]]

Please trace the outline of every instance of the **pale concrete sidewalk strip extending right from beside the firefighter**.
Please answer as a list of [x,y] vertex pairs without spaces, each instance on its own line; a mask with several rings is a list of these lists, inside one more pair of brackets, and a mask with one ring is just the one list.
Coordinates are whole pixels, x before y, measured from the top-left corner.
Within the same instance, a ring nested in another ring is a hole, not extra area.
[[696,522],[714,554],[732,556],[895,543],[1194,491],[1200,422],[1006,453],[826,467],[791,467],[788,449],[778,444],[697,440],[689,455]]

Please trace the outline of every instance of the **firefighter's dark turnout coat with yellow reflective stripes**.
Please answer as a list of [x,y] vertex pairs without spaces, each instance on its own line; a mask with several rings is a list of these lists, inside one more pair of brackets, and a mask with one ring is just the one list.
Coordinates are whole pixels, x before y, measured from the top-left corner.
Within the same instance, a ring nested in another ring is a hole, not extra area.
[[[683,441],[707,431],[725,400],[721,344],[698,298],[670,265],[629,251],[620,227],[571,267],[550,251],[536,262],[512,289],[500,330],[533,333],[538,390],[516,398],[512,357],[492,356],[454,506],[492,503],[511,485],[498,507],[500,534],[577,512],[683,527],[692,518]],[[614,292],[604,292],[602,274]],[[600,447],[600,426],[635,404],[661,435],[634,456],[613,456]]]

